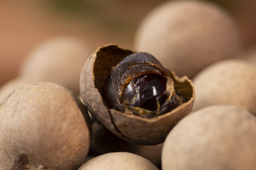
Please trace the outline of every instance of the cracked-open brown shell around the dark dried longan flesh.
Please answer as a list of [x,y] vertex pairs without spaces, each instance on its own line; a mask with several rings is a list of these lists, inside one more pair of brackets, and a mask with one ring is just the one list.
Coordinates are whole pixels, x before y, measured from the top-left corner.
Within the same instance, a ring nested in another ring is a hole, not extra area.
[[131,53],[134,51],[115,44],[99,47],[82,69],[80,79],[82,99],[90,113],[116,136],[135,144],[159,144],[165,140],[172,127],[192,111],[194,88],[186,76],[179,78],[171,72],[174,82],[180,85],[180,90],[188,99],[171,112],[147,119],[109,109],[101,94],[104,81],[110,69]]

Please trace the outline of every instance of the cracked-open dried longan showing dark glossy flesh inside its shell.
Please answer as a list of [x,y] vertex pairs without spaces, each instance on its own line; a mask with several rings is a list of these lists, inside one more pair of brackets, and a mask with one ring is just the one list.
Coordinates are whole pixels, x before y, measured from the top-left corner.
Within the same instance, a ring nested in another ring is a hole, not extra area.
[[[136,86],[149,90],[138,95]],[[115,44],[99,47],[84,63],[80,92],[85,106],[103,126],[130,143],[143,145],[162,143],[191,112],[195,99],[188,77],[176,76],[151,54]],[[161,102],[161,96],[166,100]]]

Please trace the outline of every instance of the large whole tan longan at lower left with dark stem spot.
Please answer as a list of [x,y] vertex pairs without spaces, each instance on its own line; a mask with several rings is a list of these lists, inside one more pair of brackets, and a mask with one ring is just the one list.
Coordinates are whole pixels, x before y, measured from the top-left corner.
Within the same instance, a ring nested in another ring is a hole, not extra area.
[[20,87],[0,104],[0,169],[76,170],[91,144],[82,102],[53,83]]

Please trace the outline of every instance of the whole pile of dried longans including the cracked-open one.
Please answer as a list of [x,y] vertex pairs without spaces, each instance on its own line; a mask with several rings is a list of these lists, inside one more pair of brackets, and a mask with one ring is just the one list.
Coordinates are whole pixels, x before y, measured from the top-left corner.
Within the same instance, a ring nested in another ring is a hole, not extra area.
[[255,169],[256,51],[227,11],[165,2],[134,49],[31,51],[0,87],[0,170]]

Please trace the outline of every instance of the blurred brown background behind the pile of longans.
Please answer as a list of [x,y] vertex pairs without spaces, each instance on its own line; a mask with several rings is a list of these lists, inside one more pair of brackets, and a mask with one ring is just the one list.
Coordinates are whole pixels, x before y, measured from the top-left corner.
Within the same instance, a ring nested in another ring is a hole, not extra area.
[[[136,28],[166,0],[6,0],[0,2],[0,85],[17,76],[22,59],[40,42],[72,35],[92,51],[116,43],[132,48]],[[213,1],[213,0],[212,0]],[[244,47],[256,43],[256,1],[215,0],[237,22]]]

